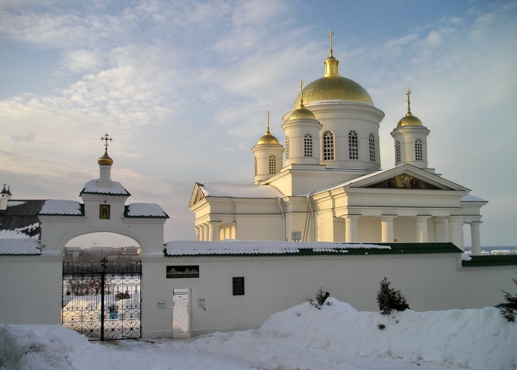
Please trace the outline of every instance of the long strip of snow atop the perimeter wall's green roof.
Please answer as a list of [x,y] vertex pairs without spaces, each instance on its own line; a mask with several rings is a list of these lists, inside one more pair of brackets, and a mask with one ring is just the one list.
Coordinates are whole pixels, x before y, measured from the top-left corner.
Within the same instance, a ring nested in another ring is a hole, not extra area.
[[344,243],[294,243],[272,240],[223,240],[220,242],[173,240],[165,244],[170,256],[206,254],[298,254],[300,249],[347,253],[346,249],[391,249],[388,245]]

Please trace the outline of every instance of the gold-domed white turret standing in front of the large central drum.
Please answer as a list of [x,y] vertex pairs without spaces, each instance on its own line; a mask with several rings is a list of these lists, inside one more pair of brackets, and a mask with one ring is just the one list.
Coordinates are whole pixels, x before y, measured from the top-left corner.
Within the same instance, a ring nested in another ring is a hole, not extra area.
[[303,106],[303,81],[300,82],[300,106],[284,116],[285,165],[320,164],[320,130],[323,125]]

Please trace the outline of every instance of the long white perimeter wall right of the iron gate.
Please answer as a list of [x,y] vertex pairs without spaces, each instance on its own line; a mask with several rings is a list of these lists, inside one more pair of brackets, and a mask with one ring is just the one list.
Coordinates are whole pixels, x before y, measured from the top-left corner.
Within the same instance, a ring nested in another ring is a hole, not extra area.
[[[199,265],[199,278],[166,278],[170,265]],[[272,314],[314,298],[319,287],[362,311],[378,311],[376,293],[387,276],[415,311],[481,308],[513,292],[515,266],[461,267],[460,254],[348,257],[144,258],[144,338],[170,336],[172,291],[191,289],[192,336],[258,327]],[[232,295],[232,278],[245,295]],[[205,309],[198,307],[205,298]],[[166,302],[166,309],[157,308]]]

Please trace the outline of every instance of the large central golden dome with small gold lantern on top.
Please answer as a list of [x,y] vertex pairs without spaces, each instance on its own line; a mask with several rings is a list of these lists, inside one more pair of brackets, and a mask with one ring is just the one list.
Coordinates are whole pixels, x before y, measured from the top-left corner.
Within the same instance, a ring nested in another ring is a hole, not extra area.
[[[355,81],[342,77],[338,73],[339,61],[331,56],[325,61],[325,76],[312,81],[303,89],[303,103],[309,104],[318,100],[358,101],[374,105],[372,98]],[[300,106],[301,94],[296,96],[293,108]]]

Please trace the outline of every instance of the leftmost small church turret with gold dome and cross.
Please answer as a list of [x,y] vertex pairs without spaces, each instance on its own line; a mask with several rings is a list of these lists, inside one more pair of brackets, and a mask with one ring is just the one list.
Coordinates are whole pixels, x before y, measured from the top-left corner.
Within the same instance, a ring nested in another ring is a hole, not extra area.
[[255,182],[260,183],[282,168],[284,148],[270,132],[270,112],[267,112],[267,131],[252,149],[255,154]]

